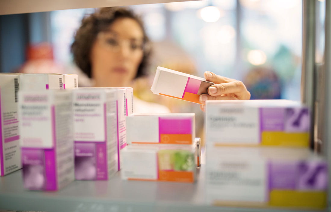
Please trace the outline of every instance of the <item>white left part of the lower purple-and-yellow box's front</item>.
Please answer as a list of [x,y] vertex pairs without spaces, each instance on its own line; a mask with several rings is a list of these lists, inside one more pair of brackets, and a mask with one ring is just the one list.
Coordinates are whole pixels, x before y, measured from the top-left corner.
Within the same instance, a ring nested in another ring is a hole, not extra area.
[[209,202],[265,202],[268,192],[266,171],[266,164],[262,160],[232,158],[212,162],[206,173],[207,199]]

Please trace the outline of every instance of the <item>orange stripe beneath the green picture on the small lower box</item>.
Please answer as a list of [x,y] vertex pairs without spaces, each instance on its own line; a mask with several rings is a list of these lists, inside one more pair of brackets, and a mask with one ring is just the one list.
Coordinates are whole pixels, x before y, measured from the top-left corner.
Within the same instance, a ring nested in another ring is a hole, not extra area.
[[193,183],[193,172],[185,171],[163,171],[159,170],[159,181],[172,181],[181,183]]

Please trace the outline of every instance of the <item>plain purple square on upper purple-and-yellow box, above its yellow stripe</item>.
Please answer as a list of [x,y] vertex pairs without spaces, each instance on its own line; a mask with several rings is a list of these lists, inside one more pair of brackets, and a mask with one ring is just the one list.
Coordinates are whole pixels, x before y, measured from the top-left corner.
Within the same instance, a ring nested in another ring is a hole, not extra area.
[[284,131],[284,108],[261,108],[261,131]]

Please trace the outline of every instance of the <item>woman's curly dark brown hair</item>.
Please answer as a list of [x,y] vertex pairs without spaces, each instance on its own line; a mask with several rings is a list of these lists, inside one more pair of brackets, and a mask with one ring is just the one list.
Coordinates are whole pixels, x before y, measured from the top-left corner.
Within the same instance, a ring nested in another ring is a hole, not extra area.
[[[144,46],[148,46],[149,39],[146,35],[143,22],[133,11],[125,7],[106,7],[98,9],[95,13],[82,19],[81,26],[76,31],[74,41],[71,44],[74,62],[89,78],[92,77],[90,51],[97,34],[100,31],[106,31],[107,28],[119,18],[131,18],[137,21],[144,34]],[[135,79],[147,74],[146,67],[150,54],[151,50],[144,48],[143,58],[138,67]]]

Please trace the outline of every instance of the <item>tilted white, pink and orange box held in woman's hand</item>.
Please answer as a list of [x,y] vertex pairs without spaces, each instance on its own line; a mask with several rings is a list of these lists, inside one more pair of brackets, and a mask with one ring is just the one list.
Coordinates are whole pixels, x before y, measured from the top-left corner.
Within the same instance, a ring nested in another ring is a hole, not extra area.
[[155,94],[202,104],[199,96],[208,93],[208,87],[213,84],[204,78],[159,66],[151,90]]

